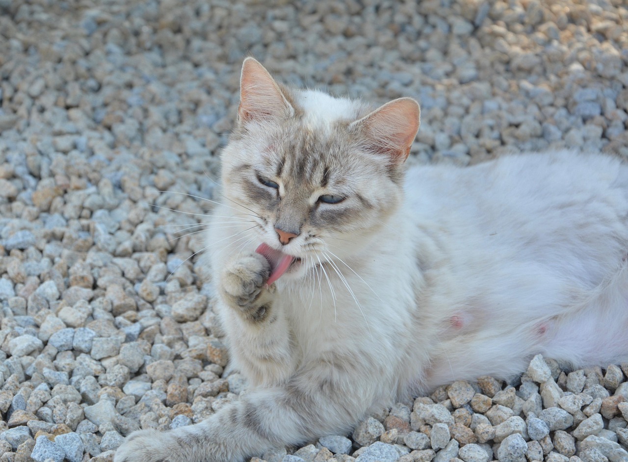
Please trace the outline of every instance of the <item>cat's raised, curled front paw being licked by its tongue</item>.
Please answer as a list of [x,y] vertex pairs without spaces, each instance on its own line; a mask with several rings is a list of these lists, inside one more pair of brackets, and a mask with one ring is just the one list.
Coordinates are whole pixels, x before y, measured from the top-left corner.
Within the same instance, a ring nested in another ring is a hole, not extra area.
[[[247,316],[254,316],[263,306],[261,294],[271,266],[262,255],[251,252],[229,264],[222,275],[222,291],[229,305]],[[263,313],[262,313],[263,314]]]

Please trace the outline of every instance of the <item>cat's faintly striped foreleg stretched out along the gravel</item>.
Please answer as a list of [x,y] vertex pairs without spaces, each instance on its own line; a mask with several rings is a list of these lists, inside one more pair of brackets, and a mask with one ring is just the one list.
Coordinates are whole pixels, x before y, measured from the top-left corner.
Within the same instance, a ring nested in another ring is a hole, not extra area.
[[382,397],[367,378],[370,369],[346,359],[325,358],[281,387],[249,390],[199,424],[134,432],[114,462],[241,462],[269,448],[347,432]]

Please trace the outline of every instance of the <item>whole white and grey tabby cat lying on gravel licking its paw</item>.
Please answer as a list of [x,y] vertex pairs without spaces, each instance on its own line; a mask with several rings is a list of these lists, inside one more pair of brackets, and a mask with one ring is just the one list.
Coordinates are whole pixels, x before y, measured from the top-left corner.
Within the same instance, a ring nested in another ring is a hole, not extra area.
[[537,353],[628,360],[628,166],[556,151],[404,174],[419,124],[413,99],[374,110],[244,61],[208,244],[250,387],[114,461],[242,461]]

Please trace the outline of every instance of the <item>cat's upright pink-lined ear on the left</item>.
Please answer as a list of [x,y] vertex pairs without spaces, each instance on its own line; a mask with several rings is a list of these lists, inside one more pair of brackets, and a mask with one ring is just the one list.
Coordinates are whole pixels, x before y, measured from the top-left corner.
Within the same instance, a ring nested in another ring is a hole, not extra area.
[[254,58],[242,63],[238,120],[272,121],[294,114],[294,109],[266,68]]

